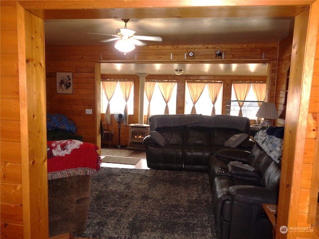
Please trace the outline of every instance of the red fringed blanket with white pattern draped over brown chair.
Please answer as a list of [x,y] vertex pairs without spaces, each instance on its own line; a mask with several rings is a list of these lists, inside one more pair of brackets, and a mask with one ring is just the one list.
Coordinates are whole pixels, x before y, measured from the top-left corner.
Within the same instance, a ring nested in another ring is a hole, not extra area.
[[97,175],[101,168],[98,146],[75,139],[48,141],[48,180]]

